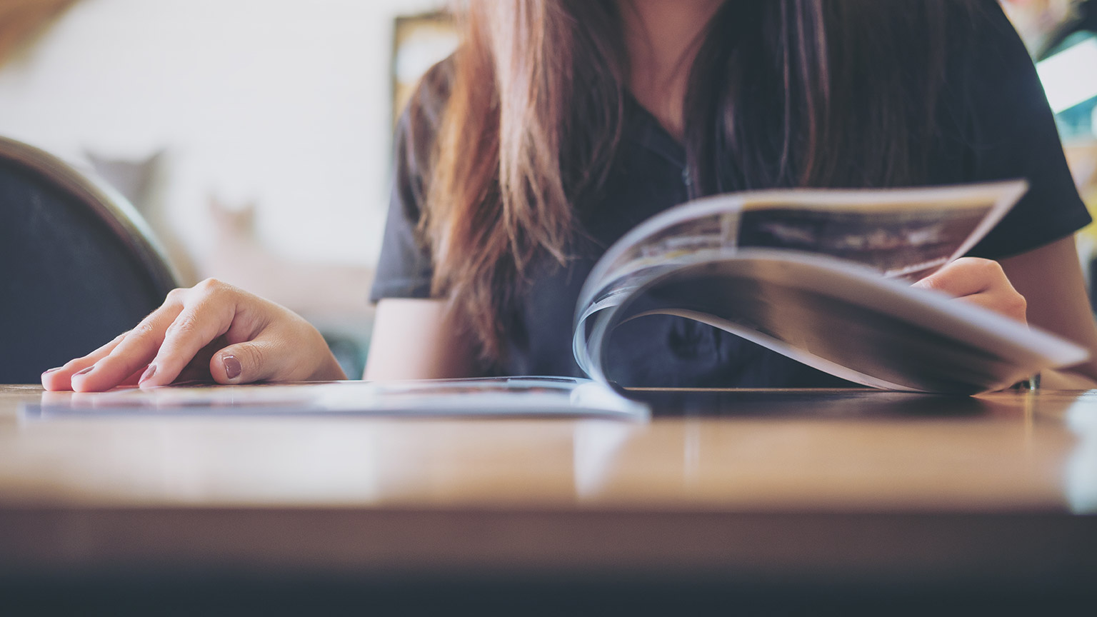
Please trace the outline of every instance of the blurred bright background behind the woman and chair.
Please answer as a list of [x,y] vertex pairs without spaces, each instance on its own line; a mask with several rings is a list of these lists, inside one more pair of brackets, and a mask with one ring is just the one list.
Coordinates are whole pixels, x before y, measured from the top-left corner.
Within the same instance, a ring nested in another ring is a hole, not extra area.
[[[1097,0],[1004,0],[1097,206]],[[183,284],[310,319],[351,375],[404,97],[456,41],[444,0],[0,0],[0,135],[95,172]],[[1083,234],[1088,267],[1097,232]]]

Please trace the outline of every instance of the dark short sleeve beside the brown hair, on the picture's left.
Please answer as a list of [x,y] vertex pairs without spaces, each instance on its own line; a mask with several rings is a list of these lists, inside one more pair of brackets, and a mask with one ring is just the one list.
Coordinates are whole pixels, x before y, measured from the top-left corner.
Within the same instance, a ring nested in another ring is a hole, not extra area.
[[433,266],[419,231],[430,154],[449,97],[452,59],[434,65],[416,89],[396,126],[393,189],[370,301],[430,298]]

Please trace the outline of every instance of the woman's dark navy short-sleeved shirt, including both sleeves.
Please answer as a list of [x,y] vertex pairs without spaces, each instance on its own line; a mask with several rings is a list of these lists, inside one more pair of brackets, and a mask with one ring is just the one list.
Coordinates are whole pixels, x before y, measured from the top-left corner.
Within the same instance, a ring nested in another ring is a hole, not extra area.
[[[1029,192],[971,253],[1000,259],[1060,239],[1089,223],[1063,157],[1034,67],[994,2],[977,25],[972,57],[950,58],[943,96],[954,125],[942,128],[929,184],[1026,178]],[[444,99],[444,66],[418,96]],[[426,105],[440,110],[443,101]],[[575,303],[595,261],[625,232],[688,199],[686,153],[638,103],[626,105],[625,135],[597,203],[577,204],[584,234],[566,267],[531,266],[531,284],[507,340],[504,374],[581,377],[572,355]],[[425,177],[421,142],[437,117],[405,117],[396,178],[371,299],[428,298],[431,258],[416,233]],[[827,386],[846,382],[711,326],[670,316],[626,323],[611,337],[609,377],[635,386]]]

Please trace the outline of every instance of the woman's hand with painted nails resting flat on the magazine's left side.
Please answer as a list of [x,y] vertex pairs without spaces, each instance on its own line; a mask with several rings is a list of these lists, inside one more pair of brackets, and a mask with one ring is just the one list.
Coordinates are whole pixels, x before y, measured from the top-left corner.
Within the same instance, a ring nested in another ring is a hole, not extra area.
[[101,392],[177,379],[236,384],[347,379],[324,337],[289,308],[206,279],[172,290],[134,329],[42,374],[46,390]]

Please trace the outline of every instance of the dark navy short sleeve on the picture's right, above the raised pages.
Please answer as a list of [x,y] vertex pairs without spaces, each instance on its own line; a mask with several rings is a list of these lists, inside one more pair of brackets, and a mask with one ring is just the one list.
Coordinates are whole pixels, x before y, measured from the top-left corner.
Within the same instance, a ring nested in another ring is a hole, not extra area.
[[1029,182],[1028,193],[971,251],[1000,259],[1066,237],[1090,217],[1036,67],[1013,24],[993,0],[980,4],[972,23],[970,64],[960,74],[965,83],[952,85],[966,99],[969,180]]

